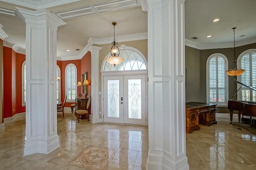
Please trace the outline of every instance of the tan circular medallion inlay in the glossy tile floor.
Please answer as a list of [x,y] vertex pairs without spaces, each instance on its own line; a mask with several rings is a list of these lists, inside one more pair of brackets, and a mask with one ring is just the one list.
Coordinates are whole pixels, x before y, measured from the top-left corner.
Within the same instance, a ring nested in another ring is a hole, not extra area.
[[89,146],[70,162],[72,166],[92,170],[106,170],[117,149]]

